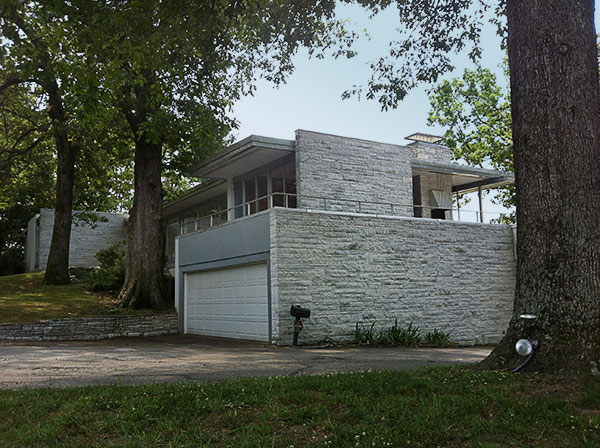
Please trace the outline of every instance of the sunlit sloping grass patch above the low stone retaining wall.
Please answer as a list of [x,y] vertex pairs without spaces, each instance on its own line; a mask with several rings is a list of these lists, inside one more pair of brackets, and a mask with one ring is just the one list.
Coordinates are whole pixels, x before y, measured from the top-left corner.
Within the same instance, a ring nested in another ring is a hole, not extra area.
[[108,293],[87,291],[82,284],[42,285],[43,277],[43,272],[0,277],[0,323],[131,313],[116,308],[118,301]]

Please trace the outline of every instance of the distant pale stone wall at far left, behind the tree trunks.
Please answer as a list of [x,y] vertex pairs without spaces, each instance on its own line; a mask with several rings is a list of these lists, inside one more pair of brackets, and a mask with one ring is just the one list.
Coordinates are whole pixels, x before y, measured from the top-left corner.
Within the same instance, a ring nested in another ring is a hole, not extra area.
[[[74,212],[76,214],[77,212]],[[92,267],[97,266],[96,252],[110,246],[118,241],[127,239],[127,228],[125,222],[128,215],[122,213],[96,212],[106,222],[98,221],[95,227],[78,223],[71,225],[71,242],[69,246],[69,266]],[[40,210],[39,228],[37,238],[37,262],[35,270],[46,269],[48,254],[50,253],[50,242],[52,241],[52,229],[54,228],[54,210],[43,208]],[[29,229],[28,229],[29,230]],[[29,237],[28,237],[29,241]],[[27,257],[35,247],[27,247]]]

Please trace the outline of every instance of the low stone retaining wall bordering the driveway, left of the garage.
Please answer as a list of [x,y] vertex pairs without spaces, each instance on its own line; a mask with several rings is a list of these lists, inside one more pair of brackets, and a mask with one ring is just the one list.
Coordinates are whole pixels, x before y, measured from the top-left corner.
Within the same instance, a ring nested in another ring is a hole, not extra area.
[[83,341],[175,333],[177,313],[174,312],[0,324],[0,339],[13,341]]

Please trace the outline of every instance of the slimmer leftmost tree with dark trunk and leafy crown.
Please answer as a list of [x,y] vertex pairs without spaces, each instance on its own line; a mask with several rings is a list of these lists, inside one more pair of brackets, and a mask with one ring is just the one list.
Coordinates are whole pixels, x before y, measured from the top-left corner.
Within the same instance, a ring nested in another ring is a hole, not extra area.
[[[44,14],[40,5],[6,0],[0,8],[3,51],[0,94],[28,86],[47,103],[47,114],[57,154],[54,229],[44,281],[70,282],[69,240],[73,210],[75,161],[79,146],[73,139],[65,92],[72,88],[74,63],[53,50],[68,48],[68,33],[58,17]],[[60,30],[60,31],[59,31]],[[61,38],[64,41],[61,42]],[[73,90],[73,89],[71,89]],[[18,141],[18,139],[17,139]]]

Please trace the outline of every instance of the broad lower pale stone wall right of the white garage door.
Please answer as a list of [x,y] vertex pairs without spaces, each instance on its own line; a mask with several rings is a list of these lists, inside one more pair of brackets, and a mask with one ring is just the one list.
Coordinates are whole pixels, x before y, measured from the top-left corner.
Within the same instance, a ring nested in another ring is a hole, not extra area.
[[273,338],[292,341],[292,304],[311,309],[300,339],[351,340],[357,322],[418,325],[459,344],[497,343],[515,282],[508,226],[271,211]]

